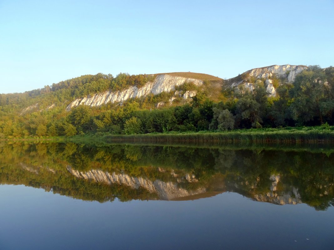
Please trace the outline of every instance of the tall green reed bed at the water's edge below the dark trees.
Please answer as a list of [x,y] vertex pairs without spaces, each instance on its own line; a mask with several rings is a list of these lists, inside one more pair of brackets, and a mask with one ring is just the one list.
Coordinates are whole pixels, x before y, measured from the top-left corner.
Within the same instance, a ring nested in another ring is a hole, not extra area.
[[333,130],[239,130],[231,132],[188,133],[188,134],[144,134],[106,135],[108,142],[147,142],[147,143],[331,143]]

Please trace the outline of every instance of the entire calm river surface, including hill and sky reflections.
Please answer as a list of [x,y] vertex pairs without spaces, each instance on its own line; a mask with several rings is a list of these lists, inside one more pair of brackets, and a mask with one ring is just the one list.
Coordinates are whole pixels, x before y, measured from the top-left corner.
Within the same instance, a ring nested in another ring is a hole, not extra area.
[[0,249],[334,249],[332,147],[0,143]]

